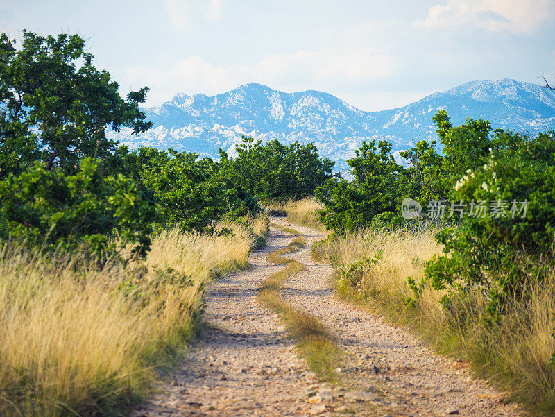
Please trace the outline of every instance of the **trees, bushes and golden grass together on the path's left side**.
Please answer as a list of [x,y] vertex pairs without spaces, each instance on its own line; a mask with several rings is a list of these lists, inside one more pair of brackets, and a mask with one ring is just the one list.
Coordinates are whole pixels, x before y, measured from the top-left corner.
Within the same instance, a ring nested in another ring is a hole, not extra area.
[[219,162],[130,150],[105,133],[151,128],[148,88],[121,97],[81,37],[2,34],[0,56],[0,416],[121,416],[177,363],[210,281],[264,246],[260,199],[313,194],[333,163],[248,138]]

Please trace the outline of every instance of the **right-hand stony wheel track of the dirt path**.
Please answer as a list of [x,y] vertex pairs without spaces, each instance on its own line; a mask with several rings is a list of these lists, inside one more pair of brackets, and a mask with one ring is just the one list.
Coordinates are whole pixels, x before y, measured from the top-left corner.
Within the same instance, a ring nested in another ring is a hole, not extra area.
[[[524,416],[515,404],[484,380],[473,380],[468,366],[436,355],[407,330],[381,316],[361,312],[337,300],[327,284],[330,266],[315,262],[310,247],[323,238],[311,228],[284,219],[275,223],[295,228],[307,246],[288,255],[307,267],[290,278],[284,297],[327,325],[344,352],[345,379],[359,389],[374,391],[382,413],[391,416]],[[382,414],[383,415],[383,414]]]

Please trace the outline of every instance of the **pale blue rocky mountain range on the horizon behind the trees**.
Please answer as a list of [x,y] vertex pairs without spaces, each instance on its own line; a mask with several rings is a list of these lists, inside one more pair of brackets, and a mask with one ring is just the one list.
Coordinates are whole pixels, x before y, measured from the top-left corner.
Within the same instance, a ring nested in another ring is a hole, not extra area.
[[555,91],[503,79],[471,81],[379,112],[364,112],[325,92],[285,93],[250,83],[216,96],[177,94],[143,109],[154,123],[148,133],[133,136],[123,128],[108,135],[130,148],[171,147],[214,158],[219,147],[233,153],[241,135],[284,144],[314,141],[322,156],[345,169],[364,139],[387,139],[397,153],[420,139],[435,139],[432,116],[443,108],[454,125],[472,117],[531,135],[555,129]]

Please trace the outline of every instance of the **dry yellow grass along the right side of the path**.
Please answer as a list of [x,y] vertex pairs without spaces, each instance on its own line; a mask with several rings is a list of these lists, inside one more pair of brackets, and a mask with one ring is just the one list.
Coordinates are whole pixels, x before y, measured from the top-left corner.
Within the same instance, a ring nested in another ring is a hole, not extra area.
[[[511,391],[537,415],[555,414],[555,273],[547,282],[527,289],[528,302],[514,303],[497,326],[487,325],[487,300],[476,291],[452,298],[449,310],[438,303],[443,293],[425,285],[416,303],[407,277],[424,278],[424,262],[440,248],[432,232],[361,232],[325,240],[313,248],[314,257],[329,259],[338,268],[363,257],[380,258],[353,273],[350,287],[337,282],[345,298],[409,325],[440,352],[468,359],[481,377]],[[340,280],[340,279],[339,279]],[[344,283],[343,283],[344,284]]]

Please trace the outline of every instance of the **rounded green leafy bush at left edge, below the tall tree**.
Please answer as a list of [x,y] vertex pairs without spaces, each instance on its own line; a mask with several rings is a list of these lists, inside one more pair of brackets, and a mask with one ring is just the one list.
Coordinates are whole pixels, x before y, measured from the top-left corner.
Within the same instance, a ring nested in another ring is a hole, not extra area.
[[[132,180],[102,177],[90,158],[75,175],[37,162],[19,176],[0,181],[0,237],[72,250],[85,244],[97,255],[112,255],[136,244],[144,255],[153,207]],[[116,233],[119,239],[110,239]]]

